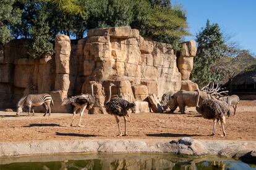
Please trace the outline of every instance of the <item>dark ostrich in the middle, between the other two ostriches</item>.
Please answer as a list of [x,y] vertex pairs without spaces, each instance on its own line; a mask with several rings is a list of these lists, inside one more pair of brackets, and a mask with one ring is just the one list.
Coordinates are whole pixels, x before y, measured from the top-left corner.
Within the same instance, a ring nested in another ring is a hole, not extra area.
[[124,136],[127,136],[127,126],[126,126],[126,122],[127,122],[127,118],[126,116],[129,117],[129,113],[128,110],[132,110],[132,113],[135,113],[135,103],[130,103],[127,100],[121,99],[119,97],[114,97],[113,99],[111,99],[111,87],[112,86],[116,86],[113,83],[110,83],[109,85],[109,98],[108,98],[108,102],[105,103],[105,108],[106,111],[108,112],[108,114],[110,115],[114,115],[114,117],[116,118],[116,122],[118,124],[118,129],[119,129],[119,135],[118,136],[122,136],[122,131],[121,131],[121,126],[120,126],[120,121],[117,118],[117,116],[122,116],[124,117]]

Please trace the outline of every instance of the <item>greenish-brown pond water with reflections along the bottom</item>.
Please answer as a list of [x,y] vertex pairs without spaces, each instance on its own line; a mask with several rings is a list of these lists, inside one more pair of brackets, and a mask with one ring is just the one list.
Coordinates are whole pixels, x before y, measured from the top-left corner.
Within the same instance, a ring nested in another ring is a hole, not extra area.
[[3,169],[256,169],[241,161],[224,158],[179,158],[170,154],[62,155],[0,158]]

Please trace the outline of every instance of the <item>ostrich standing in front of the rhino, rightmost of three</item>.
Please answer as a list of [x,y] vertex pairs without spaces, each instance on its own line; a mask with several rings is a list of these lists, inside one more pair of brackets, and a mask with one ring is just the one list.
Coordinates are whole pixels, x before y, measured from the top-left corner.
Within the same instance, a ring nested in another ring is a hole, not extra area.
[[224,130],[224,123],[226,123],[224,114],[227,113],[230,115],[230,110],[228,105],[224,102],[214,100],[214,99],[205,99],[198,105],[199,103],[199,89],[196,90],[198,92],[197,95],[197,106],[195,107],[197,112],[200,113],[205,119],[213,119],[213,133],[215,135],[215,126],[216,121],[221,121],[221,127],[223,131],[223,136],[226,136],[226,132]]

